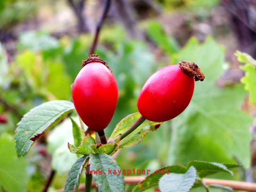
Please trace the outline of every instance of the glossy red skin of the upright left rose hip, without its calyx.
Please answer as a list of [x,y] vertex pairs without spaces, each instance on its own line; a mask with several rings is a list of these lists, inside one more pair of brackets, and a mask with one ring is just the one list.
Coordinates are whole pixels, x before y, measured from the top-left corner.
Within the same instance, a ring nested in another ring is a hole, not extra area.
[[78,115],[93,131],[105,129],[116,109],[118,88],[112,72],[100,62],[86,64],[72,86]]

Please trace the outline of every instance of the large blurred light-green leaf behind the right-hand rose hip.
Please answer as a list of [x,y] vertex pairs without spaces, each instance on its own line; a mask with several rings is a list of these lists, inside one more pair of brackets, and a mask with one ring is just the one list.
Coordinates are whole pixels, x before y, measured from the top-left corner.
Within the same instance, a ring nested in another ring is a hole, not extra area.
[[173,64],[180,60],[195,62],[204,72],[205,80],[195,83],[190,104],[172,119],[170,164],[187,164],[190,160],[235,162],[237,159],[249,167],[252,117],[240,109],[246,96],[242,85],[216,85],[224,72],[224,58],[223,48],[211,37],[202,44],[191,38],[173,57]]

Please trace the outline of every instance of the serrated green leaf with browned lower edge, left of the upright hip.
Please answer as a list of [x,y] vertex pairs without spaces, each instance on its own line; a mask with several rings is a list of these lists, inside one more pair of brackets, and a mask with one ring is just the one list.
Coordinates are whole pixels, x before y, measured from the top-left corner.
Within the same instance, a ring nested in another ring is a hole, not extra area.
[[56,100],[39,105],[24,115],[14,136],[18,157],[25,156],[36,139],[43,136],[73,109],[72,102]]

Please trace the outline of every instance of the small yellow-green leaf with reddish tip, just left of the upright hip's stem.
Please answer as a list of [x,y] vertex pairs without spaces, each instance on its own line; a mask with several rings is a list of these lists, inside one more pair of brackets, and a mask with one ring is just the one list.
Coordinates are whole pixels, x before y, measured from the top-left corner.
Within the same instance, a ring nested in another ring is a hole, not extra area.
[[91,145],[93,144],[96,144],[96,142],[93,137],[88,134],[84,137],[84,140],[78,147],[75,147],[74,145],[68,143],[68,148],[71,153],[89,155],[90,153],[94,152],[91,148]]

